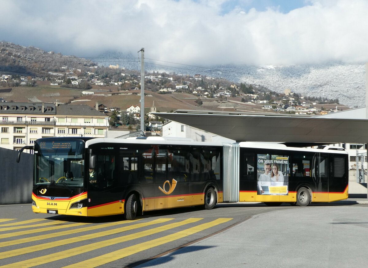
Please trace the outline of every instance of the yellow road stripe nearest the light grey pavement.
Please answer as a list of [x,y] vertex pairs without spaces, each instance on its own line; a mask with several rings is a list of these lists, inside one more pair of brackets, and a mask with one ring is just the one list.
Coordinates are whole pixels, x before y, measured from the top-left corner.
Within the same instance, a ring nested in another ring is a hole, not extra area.
[[156,246],[160,246],[162,244],[166,244],[169,243],[171,241],[183,238],[185,236],[189,236],[192,235],[194,233],[198,233],[200,231],[203,231],[205,229],[208,229],[210,227],[213,227],[215,225],[219,225],[220,223],[224,223],[224,222],[228,222],[230,221],[231,218],[219,218],[216,219],[215,221],[212,222],[207,222],[207,223],[203,223],[201,225],[177,232],[177,233],[173,233],[171,235],[167,235],[164,237],[160,237],[160,238],[156,238],[153,239],[151,241],[147,241],[147,242],[143,242],[143,243],[139,243],[137,245],[134,246],[130,246],[130,247],[126,247],[126,248],[122,248],[120,250],[116,250],[113,251],[111,253],[107,253],[107,254],[103,254],[99,257],[95,257],[86,261],[81,261],[81,262],[77,262],[75,264],[72,265],[68,265],[68,266],[64,266],[65,267],[97,267],[99,265],[103,265],[112,261],[116,261],[119,260],[121,258],[127,257],[129,255],[141,252],[143,250],[152,248],[152,247],[156,247]]

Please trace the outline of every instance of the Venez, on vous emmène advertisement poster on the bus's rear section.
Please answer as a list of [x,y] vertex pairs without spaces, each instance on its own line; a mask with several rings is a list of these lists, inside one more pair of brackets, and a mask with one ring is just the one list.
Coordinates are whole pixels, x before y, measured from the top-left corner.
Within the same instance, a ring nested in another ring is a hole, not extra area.
[[257,155],[257,194],[288,195],[289,156]]

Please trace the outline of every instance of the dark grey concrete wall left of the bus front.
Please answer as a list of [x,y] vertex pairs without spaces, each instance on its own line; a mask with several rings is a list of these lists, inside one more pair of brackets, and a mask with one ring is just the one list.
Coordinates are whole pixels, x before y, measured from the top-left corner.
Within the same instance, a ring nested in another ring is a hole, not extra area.
[[0,204],[32,202],[33,155],[22,152],[17,163],[18,152],[0,148]]

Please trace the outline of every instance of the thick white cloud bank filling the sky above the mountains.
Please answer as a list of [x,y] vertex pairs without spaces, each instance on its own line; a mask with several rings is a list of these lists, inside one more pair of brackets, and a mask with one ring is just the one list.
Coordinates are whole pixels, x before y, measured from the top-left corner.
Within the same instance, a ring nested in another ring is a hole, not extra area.
[[105,50],[201,64],[368,61],[368,1],[222,14],[226,0],[2,1],[0,39],[77,56]]

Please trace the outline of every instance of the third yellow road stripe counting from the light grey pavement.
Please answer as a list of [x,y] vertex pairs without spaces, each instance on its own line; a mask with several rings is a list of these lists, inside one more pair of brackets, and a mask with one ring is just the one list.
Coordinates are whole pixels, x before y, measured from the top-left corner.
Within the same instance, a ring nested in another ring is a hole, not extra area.
[[125,231],[128,231],[128,230],[133,230],[133,229],[149,226],[149,225],[153,225],[153,224],[156,224],[156,223],[163,223],[163,222],[167,222],[167,221],[170,221],[170,220],[171,219],[157,219],[157,220],[154,220],[154,221],[151,221],[151,222],[138,223],[138,224],[135,224],[135,225],[125,226],[125,227],[112,229],[112,230],[107,230],[107,231],[98,232],[98,233],[93,233],[93,234],[89,234],[89,235],[77,236],[77,237],[67,238],[67,239],[53,241],[53,242],[49,242],[49,243],[39,244],[39,245],[35,245],[35,246],[29,246],[29,247],[19,248],[19,249],[15,249],[15,250],[9,250],[9,251],[5,251],[5,252],[0,253],[0,260],[4,259],[4,258],[9,258],[9,257],[14,257],[14,256],[26,254],[26,253],[36,252],[36,251],[39,251],[39,250],[44,250],[44,249],[47,249],[47,248],[50,248],[50,247],[63,246],[63,245],[66,245],[66,244],[85,241],[85,240],[93,239],[93,238],[97,238],[97,237],[113,235],[113,234],[116,234],[116,233],[121,233],[121,232],[125,232]]

